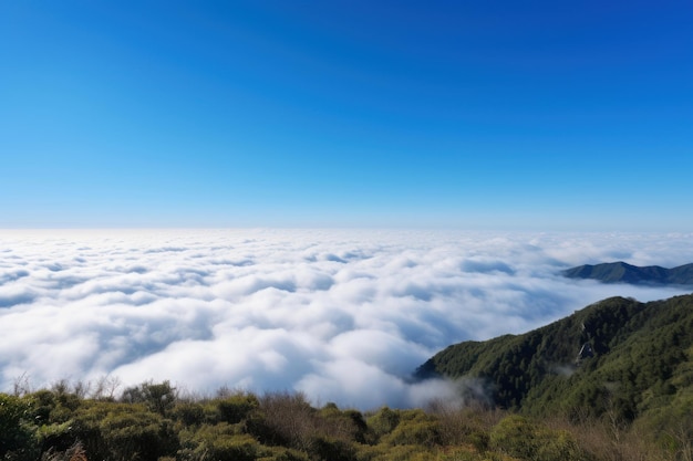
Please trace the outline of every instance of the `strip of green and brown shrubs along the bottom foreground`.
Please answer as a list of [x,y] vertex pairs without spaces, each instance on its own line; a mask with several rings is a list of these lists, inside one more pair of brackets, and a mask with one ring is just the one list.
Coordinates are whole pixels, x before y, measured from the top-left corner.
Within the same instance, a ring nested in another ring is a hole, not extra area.
[[576,423],[443,401],[361,412],[314,408],[301,394],[192,398],[168,383],[118,399],[65,386],[0,395],[0,459],[18,461],[691,460],[690,432],[642,433],[609,419]]

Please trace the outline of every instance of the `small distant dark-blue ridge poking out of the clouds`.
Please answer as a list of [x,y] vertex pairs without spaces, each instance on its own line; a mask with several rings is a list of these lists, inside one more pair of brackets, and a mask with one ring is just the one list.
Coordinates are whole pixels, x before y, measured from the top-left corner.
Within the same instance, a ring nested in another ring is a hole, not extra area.
[[593,279],[604,283],[693,285],[693,264],[673,269],[659,265],[638,266],[622,261],[585,264],[563,271],[570,279]]

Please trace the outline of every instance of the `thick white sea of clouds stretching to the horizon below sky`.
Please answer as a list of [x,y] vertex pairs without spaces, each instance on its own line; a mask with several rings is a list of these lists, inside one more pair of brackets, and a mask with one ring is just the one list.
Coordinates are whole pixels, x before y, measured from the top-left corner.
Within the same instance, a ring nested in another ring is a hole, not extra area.
[[303,391],[363,409],[452,398],[417,366],[608,296],[674,287],[562,277],[693,262],[693,234],[377,230],[0,231],[0,391],[153,379]]

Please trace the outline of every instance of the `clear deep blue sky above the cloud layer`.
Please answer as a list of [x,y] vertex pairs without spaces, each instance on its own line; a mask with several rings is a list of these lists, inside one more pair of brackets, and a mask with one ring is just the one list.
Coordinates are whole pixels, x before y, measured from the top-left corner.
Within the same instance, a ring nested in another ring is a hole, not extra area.
[[2,1],[0,227],[693,230],[693,2]]

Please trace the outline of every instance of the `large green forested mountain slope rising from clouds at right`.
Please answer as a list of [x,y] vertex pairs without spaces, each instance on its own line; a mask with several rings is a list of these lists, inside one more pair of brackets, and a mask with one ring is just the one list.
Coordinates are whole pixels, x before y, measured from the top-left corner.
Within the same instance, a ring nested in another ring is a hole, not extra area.
[[612,297],[523,335],[456,344],[417,370],[436,375],[473,378],[494,405],[535,416],[691,423],[693,295]]

